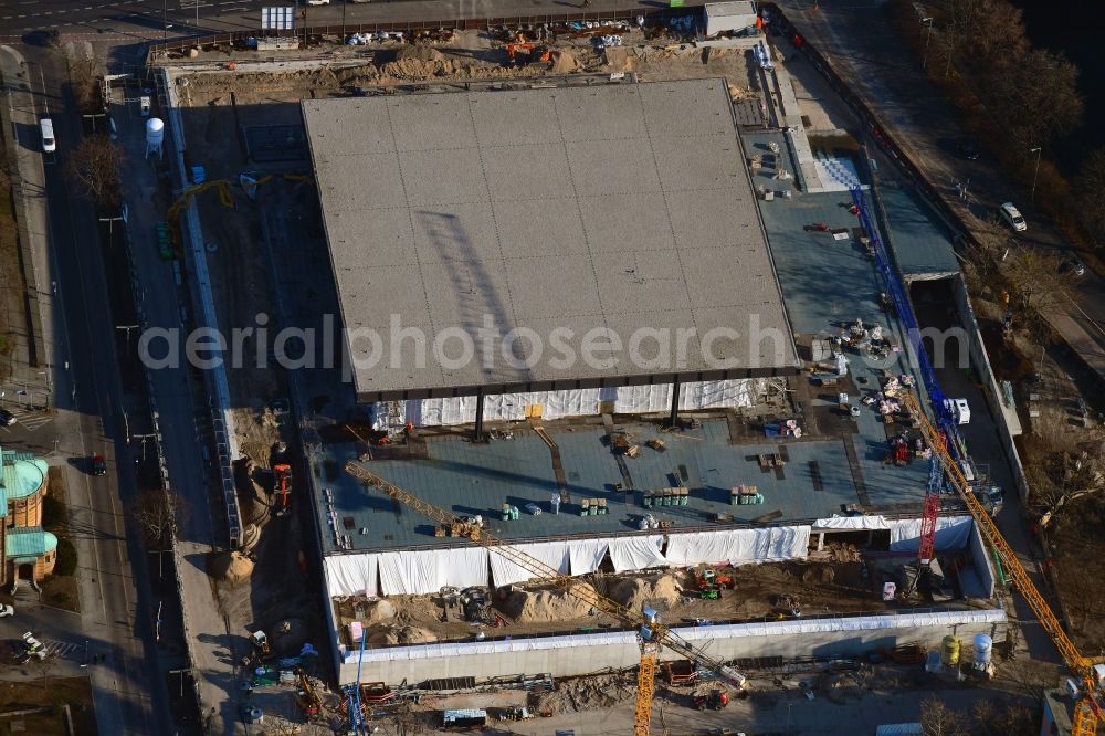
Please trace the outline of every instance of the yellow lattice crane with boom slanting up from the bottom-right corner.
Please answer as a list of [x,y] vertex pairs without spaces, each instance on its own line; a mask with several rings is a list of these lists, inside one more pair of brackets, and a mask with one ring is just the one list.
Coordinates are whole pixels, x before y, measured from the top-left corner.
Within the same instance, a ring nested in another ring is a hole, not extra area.
[[913,393],[903,392],[903,402],[913,412],[913,416],[920,421],[920,431],[925,435],[925,441],[933,449],[933,455],[944,465],[945,477],[955,486],[959,498],[967,505],[970,515],[975,519],[975,525],[982,533],[982,537],[993,547],[1006,574],[1012,580],[1013,586],[1020,591],[1028,602],[1032,612],[1035,613],[1040,625],[1048,632],[1055,643],[1055,649],[1063,656],[1066,666],[1081,681],[1078,697],[1074,704],[1074,723],[1071,728],[1072,736],[1092,736],[1097,733],[1097,719],[1105,719],[1102,712],[1102,682],[1105,679],[1105,658],[1084,656],[1071,641],[1063,630],[1062,624],[1051,610],[1051,606],[1044,600],[1036,589],[1028,571],[1021,565],[1017,553],[1009,546],[1006,538],[994,524],[993,518],[987,513],[986,507],[971,492],[970,483],[964,475],[959,464],[955,462],[948,453],[944,434],[928,421],[925,412],[920,408],[920,402]]

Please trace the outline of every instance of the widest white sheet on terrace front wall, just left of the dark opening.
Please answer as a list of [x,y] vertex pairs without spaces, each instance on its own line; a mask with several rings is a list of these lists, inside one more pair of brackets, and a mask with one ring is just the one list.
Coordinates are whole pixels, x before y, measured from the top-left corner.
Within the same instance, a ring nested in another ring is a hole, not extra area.
[[748,562],[803,559],[810,546],[810,527],[777,526],[766,529],[723,529],[667,536],[671,565]]

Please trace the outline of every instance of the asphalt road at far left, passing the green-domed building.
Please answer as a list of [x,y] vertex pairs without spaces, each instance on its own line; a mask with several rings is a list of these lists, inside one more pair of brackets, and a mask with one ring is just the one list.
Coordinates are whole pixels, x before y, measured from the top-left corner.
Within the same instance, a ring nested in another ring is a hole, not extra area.
[[[41,417],[21,417],[20,429],[29,434],[22,441],[18,437],[4,439],[4,443],[33,450],[62,469],[80,556],[82,613],[74,617],[18,601],[18,620],[6,622],[0,631],[8,635],[12,632],[7,629],[15,627],[41,632],[69,664],[76,656],[98,655],[102,664],[90,666],[87,672],[105,733],[166,733],[168,709],[156,676],[156,658],[143,644],[144,640],[152,641],[148,586],[136,585],[136,580],[145,580],[145,559],[128,540],[124,522],[123,500],[134,495],[135,486],[130,453],[123,441],[115,327],[99,244],[90,235],[96,221],[91,207],[71,196],[61,176],[63,155],[43,156],[33,130],[38,116],[49,111],[61,154],[78,140],[80,122],[64,112],[64,59],[52,52],[28,51],[22,65],[11,51],[0,53],[4,54],[6,80],[20,78],[17,75],[21,73],[28,85],[13,93],[12,105],[24,189],[43,194],[36,198],[32,214],[49,218],[31,222],[30,231],[32,248],[41,249],[36,266],[49,264],[48,277],[56,284],[50,313],[54,317],[53,380],[59,409],[49,424],[32,427],[31,421]],[[94,452],[106,458],[107,476],[93,477],[86,472],[86,459]],[[123,458],[122,474],[116,473],[116,458]]]

